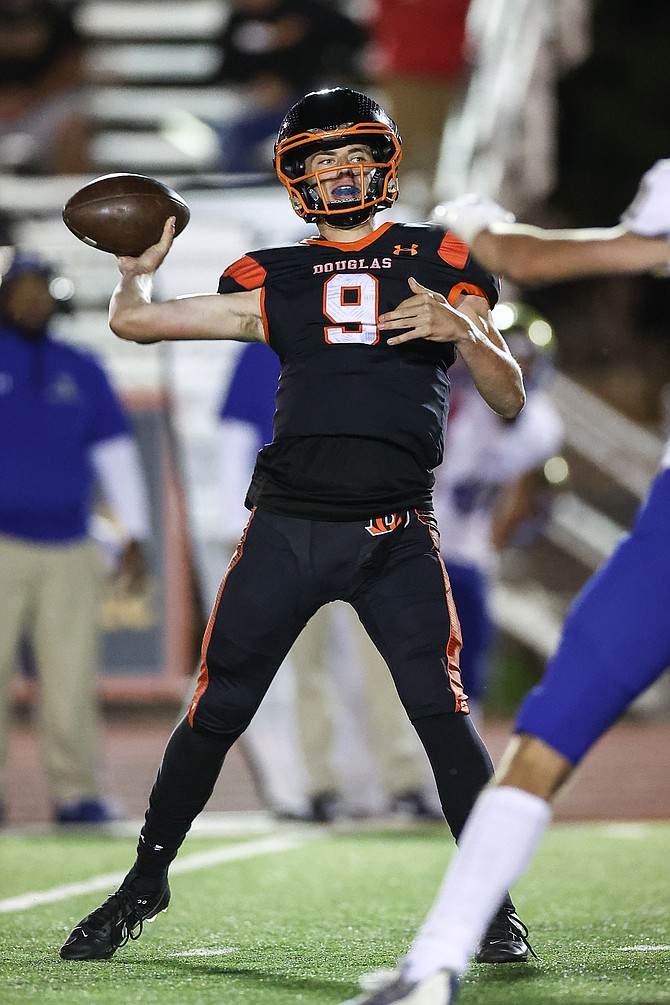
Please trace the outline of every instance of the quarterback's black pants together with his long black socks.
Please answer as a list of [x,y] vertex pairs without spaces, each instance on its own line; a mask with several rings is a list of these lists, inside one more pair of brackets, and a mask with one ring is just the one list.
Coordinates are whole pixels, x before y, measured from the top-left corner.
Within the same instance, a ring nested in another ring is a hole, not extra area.
[[188,719],[152,791],[139,849],[148,871],[150,849],[157,866],[175,856],[293,641],[334,600],[354,606],[387,661],[458,837],[492,767],[462,714],[460,627],[432,515],[330,523],[256,510],[207,626]]

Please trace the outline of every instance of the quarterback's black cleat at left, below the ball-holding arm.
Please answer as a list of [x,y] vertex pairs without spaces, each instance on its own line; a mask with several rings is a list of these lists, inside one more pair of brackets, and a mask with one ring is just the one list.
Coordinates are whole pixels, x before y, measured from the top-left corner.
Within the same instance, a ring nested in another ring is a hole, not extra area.
[[60,956],[63,960],[108,960],[130,939],[139,939],[145,922],[153,922],[169,903],[167,876],[141,878],[134,866],[117,892],[72,929]]

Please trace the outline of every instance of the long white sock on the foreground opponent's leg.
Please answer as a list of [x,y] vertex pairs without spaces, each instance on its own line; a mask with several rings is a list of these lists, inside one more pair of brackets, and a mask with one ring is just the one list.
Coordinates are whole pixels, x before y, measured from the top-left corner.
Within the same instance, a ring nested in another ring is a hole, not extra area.
[[441,967],[459,975],[467,970],[550,817],[549,804],[522,789],[496,786],[479,796],[437,899],[404,960],[409,980]]

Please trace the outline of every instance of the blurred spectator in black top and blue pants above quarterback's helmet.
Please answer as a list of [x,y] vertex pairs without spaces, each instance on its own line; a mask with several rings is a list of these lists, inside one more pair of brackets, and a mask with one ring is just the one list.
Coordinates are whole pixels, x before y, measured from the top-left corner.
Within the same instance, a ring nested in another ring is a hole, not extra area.
[[306,90],[360,79],[368,32],[332,0],[232,0],[227,6],[221,65],[211,82],[239,85],[245,96],[239,116],[216,126],[219,167],[269,173],[286,109]]

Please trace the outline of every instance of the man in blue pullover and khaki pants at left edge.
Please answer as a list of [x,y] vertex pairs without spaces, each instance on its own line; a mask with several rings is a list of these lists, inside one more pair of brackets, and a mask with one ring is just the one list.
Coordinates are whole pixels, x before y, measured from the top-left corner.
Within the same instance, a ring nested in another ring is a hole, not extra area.
[[119,574],[130,590],[145,578],[148,508],[129,421],[106,376],[88,354],[49,335],[57,309],[50,278],[45,262],[19,252],[0,284],[0,771],[27,639],[54,820],[99,823],[113,810],[95,772],[103,566],[88,534],[93,475],[128,534]]

